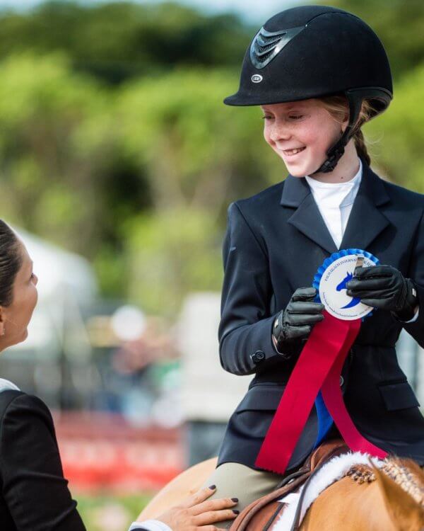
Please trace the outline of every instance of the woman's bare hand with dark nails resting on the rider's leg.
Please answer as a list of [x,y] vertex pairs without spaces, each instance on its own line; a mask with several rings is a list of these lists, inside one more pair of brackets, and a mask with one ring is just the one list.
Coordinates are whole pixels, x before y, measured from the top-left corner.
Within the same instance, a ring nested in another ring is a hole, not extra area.
[[[158,516],[156,520],[168,525],[172,531],[220,531],[213,523],[235,518],[240,511],[233,510],[237,498],[220,498],[207,501],[216,486],[206,487]],[[139,521],[139,520],[137,520]]]

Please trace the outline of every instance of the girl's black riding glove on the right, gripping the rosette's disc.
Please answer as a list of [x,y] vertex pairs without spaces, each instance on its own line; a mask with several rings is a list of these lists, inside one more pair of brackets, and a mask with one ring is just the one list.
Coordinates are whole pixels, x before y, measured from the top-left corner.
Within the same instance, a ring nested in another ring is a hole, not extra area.
[[346,284],[347,295],[374,308],[389,310],[396,319],[409,321],[418,306],[416,287],[391,265],[358,267]]

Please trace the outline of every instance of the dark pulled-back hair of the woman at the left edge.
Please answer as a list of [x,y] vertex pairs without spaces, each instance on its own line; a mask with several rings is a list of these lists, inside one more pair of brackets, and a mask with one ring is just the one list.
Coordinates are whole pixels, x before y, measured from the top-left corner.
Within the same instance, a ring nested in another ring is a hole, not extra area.
[[20,242],[2,219],[0,219],[0,305],[8,306],[13,299],[13,282],[22,265]]

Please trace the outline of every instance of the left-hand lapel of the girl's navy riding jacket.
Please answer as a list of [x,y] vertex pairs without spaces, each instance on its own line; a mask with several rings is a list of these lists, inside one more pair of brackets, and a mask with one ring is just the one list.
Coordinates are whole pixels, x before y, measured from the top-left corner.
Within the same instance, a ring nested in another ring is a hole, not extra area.
[[326,228],[324,219],[314,201],[310,187],[304,177],[289,175],[283,186],[281,205],[295,208],[295,212],[288,218],[288,223],[296,227],[302,234],[321,246],[327,252],[335,253],[336,244]]

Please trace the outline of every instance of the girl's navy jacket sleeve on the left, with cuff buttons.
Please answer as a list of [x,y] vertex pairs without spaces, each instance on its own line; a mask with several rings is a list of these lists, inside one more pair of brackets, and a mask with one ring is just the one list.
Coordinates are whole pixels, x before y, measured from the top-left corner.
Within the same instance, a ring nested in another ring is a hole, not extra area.
[[[220,363],[235,375],[249,375],[279,354],[271,338],[276,315],[270,314],[273,290],[268,256],[237,203],[228,207],[223,263]],[[255,355],[258,350],[259,356]]]

